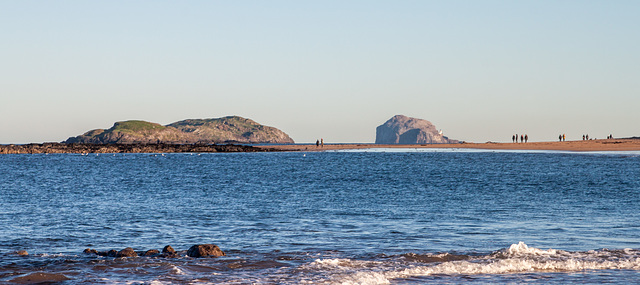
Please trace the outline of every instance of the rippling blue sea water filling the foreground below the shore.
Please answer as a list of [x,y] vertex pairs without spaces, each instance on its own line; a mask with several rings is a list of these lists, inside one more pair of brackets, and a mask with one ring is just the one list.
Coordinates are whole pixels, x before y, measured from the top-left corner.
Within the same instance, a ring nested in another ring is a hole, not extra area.
[[638,282],[640,152],[0,155],[3,284]]

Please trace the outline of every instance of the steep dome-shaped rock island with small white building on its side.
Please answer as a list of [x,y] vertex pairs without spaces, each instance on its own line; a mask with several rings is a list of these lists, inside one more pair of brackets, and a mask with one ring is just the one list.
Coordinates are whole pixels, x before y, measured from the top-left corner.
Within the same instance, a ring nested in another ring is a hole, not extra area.
[[376,128],[376,144],[459,143],[442,135],[427,120],[396,115]]

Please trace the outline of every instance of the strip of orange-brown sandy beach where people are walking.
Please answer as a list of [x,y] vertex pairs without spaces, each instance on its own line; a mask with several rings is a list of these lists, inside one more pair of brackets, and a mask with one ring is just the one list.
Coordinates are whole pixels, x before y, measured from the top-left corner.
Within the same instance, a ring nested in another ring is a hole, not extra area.
[[529,143],[459,143],[459,144],[325,144],[321,147],[306,144],[258,146],[280,151],[326,151],[370,148],[470,148],[496,150],[557,150],[557,151],[640,151],[640,139],[602,139],[566,142]]

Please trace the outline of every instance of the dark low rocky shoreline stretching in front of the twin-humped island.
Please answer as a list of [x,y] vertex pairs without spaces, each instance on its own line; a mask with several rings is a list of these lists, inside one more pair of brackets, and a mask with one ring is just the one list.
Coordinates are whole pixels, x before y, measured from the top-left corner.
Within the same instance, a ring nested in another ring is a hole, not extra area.
[[269,152],[281,151],[269,147],[234,144],[91,144],[41,143],[0,145],[0,154],[49,153],[210,153],[210,152]]

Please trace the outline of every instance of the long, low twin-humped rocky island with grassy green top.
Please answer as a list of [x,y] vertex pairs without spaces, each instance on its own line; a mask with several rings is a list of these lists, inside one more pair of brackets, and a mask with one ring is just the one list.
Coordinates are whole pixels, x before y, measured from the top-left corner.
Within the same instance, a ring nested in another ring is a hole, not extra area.
[[253,120],[229,116],[217,119],[191,119],[166,126],[145,121],[117,122],[108,130],[96,129],[65,143],[294,143],[283,131]]

